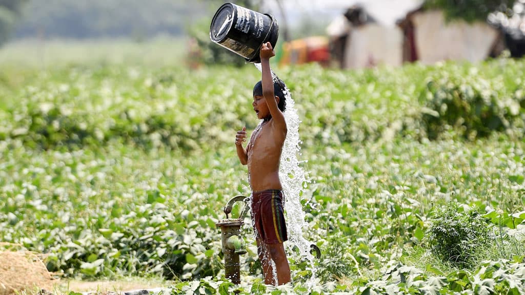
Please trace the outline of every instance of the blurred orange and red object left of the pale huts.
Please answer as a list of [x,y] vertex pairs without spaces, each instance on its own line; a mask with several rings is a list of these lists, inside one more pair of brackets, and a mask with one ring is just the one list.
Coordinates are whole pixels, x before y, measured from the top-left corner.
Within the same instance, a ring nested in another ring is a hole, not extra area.
[[281,65],[300,65],[319,62],[323,66],[330,63],[329,41],[324,36],[312,36],[289,41],[283,45]]

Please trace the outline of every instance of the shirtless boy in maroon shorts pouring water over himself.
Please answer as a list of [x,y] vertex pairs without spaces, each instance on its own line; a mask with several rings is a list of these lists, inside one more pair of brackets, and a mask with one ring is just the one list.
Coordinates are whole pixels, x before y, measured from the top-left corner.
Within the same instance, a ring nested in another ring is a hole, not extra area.
[[[257,240],[257,252],[262,273],[268,285],[290,282],[290,266],[283,242],[288,239],[283,215],[283,193],[279,180],[279,161],[286,139],[285,96],[279,83],[272,80],[270,58],[275,56],[271,44],[260,49],[262,79],[254,87],[252,106],[262,120],[251,134],[246,148],[246,127],[237,131],[235,145],[243,165],[248,165],[251,200],[251,218]],[[270,260],[271,259],[271,260]],[[272,264],[272,261],[274,264]],[[274,277],[274,266],[277,278]]]

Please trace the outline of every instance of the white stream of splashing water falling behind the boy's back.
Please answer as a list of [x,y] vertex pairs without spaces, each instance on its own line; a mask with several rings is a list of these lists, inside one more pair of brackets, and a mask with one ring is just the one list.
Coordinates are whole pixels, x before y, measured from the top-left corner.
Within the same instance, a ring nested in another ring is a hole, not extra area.
[[[262,71],[261,64],[255,64],[255,67]],[[274,71],[271,71],[274,82],[278,81],[278,77]],[[299,249],[301,258],[309,261],[308,270],[312,272],[312,276],[307,282],[308,287],[316,284],[317,269],[314,267],[314,257],[310,253],[310,245],[312,244],[302,233],[308,228],[308,224],[304,220],[306,214],[302,210],[301,196],[307,188],[308,183],[306,173],[301,167],[301,161],[297,159],[297,154],[301,150],[301,140],[299,138],[299,114],[295,108],[295,101],[291,97],[290,90],[285,86],[283,91],[286,97],[286,110],[284,112],[288,133],[286,140],[282,147],[281,161],[279,166],[279,176],[285,193],[285,219],[288,229],[288,249],[293,249],[296,246]],[[304,196],[303,196],[304,197]]]

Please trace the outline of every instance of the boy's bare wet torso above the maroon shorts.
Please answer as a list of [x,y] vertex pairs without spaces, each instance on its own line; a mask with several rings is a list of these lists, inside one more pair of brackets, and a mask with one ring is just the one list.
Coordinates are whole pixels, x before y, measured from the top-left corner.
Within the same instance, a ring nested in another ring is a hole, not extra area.
[[279,161],[284,139],[276,134],[270,119],[261,123],[251,134],[248,143],[248,173],[252,191],[282,189],[279,180]]

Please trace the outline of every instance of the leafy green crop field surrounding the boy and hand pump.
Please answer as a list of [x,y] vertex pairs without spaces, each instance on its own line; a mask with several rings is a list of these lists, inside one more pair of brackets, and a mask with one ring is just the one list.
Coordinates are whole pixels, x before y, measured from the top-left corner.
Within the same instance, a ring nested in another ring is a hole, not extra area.
[[260,72],[158,58],[0,63],[0,242],[62,278],[162,277],[172,294],[525,293],[525,60],[275,67],[321,256],[312,271],[287,245],[293,283],[271,287],[249,219],[239,286],[215,226],[250,193],[234,137],[258,124]]

